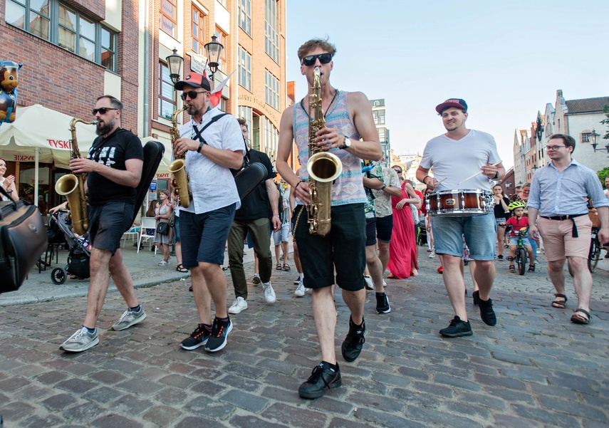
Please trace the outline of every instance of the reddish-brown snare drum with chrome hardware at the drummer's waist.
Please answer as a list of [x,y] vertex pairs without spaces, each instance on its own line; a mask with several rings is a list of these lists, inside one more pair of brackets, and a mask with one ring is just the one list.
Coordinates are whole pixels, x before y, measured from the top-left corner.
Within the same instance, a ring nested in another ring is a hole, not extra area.
[[481,216],[494,207],[493,194],[486,190],[442,190],[427,195],[427,212],[432,216]]

